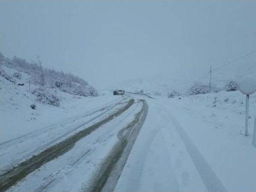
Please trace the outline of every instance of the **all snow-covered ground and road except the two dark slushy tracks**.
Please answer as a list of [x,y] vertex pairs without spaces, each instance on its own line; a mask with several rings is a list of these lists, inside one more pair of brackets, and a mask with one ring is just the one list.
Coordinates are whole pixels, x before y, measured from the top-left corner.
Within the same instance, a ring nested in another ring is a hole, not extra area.
[[[22,77],[19,81],[26,82],[26,74]],[[245,96],[239,91],[174,98],[162,95],[154,100],[134,94],[113,96],[108,91],[98,97],[78,97],[55,90],[61,98],[56,107],[36,102],[28,91],[28,83],[18,86],[0,78],[1,174],[108,118],[130,99],[135,100],[122,114],[81,138],[66,153],[27,174],[9,191],[91,189],[120,141],[118,134],[142,110],[142,99],[148,104],[146,120],[126,163],[120,164],[117,159],[115,166],[124,166],[116,173],[120,174],[119,179],[107,181],[116,192],[256,189],[256,148],[251,144],[255,93],[250,96],[249,136],[245,137]],[[31,104],[36,104],[36,109]]]

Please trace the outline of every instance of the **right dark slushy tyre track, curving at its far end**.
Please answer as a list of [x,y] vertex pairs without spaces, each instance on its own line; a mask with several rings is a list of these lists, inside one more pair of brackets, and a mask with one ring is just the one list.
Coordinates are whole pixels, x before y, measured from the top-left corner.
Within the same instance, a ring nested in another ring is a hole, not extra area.
[[134,120],[118,133],[119,142],[112,148],[108,158],[102,164],[102,170],[95,176],[94,182],[86,189],[89,192],[113,191],[120,177],[133,144],[148,114],[148,104],[142,100],[143,106]]

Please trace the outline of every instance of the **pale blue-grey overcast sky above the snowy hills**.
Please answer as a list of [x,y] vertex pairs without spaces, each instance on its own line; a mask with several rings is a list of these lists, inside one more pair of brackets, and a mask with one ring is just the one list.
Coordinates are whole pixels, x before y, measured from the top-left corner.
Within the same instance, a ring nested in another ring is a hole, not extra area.
[[44,66],[96,88],[159,74],[193,78],[256,50],[255,10],[248,0],[0,1],[0,51],[39,54]]

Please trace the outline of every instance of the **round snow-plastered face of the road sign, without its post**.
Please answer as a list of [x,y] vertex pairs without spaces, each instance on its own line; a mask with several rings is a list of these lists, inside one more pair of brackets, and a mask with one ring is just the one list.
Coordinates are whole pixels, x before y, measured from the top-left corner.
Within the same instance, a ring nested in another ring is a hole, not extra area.
[[239,89],[243,94],[250,95],[256,91],[256,78],[254,76],[244,76],[239,81]]

